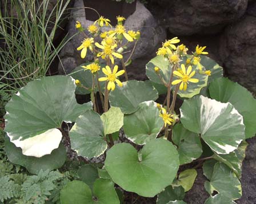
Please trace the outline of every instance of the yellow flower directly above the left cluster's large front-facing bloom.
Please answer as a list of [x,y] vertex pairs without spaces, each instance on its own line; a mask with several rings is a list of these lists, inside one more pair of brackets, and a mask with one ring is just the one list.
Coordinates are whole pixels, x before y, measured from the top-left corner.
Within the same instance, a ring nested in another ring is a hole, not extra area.
[[114,46],[110,46],[109,44],[106,44],[103,42],[102,44],[95,43],[95,46],[102,49],[102,52],[99,52],[97,54],[97,57],[101,56],[102,59],[105,59],[106,56],[109,56],[109,59],[111,60],[112,64],[114,64],[113,56],[115,56],[116,58],[119,58],[119,59],[123,58],[123,55],[121,55],[117,52],[114,52],[114,48],[117,47],[117,44],[114,44]]

